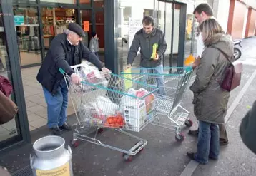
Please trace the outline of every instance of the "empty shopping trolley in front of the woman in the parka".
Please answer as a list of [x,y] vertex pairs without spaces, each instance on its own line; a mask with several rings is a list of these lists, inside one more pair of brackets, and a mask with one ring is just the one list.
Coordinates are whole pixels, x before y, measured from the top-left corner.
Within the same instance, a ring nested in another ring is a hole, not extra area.
[[[125,78],[129,77],[134,81],[147,83],[148,85],[154,85],[159,88],[157,91],[158,117],[152,125],[175,130],[175,139],[177,141],[183,141],[184,135],[181,133],[182,126],[191,127],[193,125],[192,120],[189,119],[189,111],[181,105],[184,92],[192,76],[192,68],[157,67],[130,69],[130,71],[122,72],[121,75]],[[168,120],[162,117],[167,117]]]

